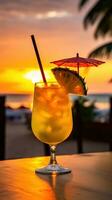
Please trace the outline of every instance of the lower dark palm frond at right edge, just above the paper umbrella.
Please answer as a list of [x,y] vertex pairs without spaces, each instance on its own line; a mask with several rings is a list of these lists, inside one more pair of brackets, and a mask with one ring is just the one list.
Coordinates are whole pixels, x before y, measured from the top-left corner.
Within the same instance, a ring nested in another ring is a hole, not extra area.
[[112,42],[106,43],[89,54],[90,57],[111,57],[112,56]]

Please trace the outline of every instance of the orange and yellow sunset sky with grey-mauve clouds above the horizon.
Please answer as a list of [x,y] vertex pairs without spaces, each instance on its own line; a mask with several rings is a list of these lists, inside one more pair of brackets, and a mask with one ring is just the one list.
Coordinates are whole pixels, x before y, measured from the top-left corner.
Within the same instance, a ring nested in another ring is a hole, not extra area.
[[[47,80],[50,61],[90,51],[111,38],[93,38],[94,27],[84,30],[83,18],[96,2],[78,11],[79,0],[0,0],[0,93],[32,93],[41,80],[30,35],[34,34]],[[97,58],[98,59],[98,58]],[[99,58],[101,59],[101,58]],[[91,92],[111,92],[112,59],[84,75]],[[36,70],[36,73],[35,73]],[[84,74],[84,72],[82,72]]]

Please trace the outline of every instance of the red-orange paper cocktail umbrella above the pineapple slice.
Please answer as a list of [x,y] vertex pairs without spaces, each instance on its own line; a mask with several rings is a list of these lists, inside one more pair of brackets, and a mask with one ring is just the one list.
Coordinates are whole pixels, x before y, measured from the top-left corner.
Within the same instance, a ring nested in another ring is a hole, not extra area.
[[93,67],[93,66],[97,67],[98,65],[101,65],[105,62],[92,59],[92,58],[82,58],[82,57],[79,57],[79,54],[77,53],[76,57],[56,60],[56,61],[52,61],[51,63],[59,67],[60,66],[77,67],[77,71],[79,74],[79,67]]

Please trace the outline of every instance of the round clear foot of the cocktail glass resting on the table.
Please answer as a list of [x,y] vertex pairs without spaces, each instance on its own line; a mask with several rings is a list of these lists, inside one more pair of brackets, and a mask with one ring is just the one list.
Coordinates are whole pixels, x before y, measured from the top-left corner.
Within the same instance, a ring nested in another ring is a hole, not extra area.
[[70,173],[71,170],[68,168],[63,168],[58,164],[49,164],[46,167],[36,169],[35,172],[39,174],[67,174]]

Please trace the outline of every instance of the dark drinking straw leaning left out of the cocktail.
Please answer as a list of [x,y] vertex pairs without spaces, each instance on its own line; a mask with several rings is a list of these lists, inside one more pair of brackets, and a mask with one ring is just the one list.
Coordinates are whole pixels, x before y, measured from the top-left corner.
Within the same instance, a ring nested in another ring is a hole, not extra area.
[[45,74],[44,74],[44,70],[43,70],[43,67],[42,67],[42,63],[41,63],[41,59],[40,59],[39,51],[37,49],[37,45],[36,45],[34,35],[31,35],[31,39],[32,39],[33,47],[34,47],[35,54],[36,54],[36,57],[37,57],[37,61],[38,61],[39,67],[40,67],[40,71],[41,71],[41,74],[42,74],[43,82],[45,83],[45,85],[47,85],[46,77],[45,77]]

